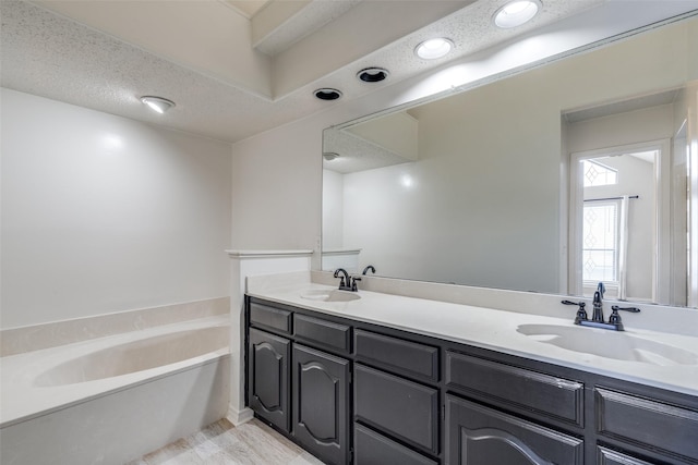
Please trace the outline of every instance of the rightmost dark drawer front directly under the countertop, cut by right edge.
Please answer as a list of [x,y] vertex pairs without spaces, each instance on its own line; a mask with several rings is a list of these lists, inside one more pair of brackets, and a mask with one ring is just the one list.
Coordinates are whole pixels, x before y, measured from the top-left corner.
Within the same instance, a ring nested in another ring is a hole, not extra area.
[[599,433],[698,463],[698,412],[603,388],[594,394]]

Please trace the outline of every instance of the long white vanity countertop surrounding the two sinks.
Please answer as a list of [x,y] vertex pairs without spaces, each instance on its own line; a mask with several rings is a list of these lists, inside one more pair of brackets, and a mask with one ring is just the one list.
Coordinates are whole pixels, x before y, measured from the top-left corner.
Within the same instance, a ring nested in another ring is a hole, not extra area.
[[[574,311],[569,318],[554,318],[362,290],[358,291],[361,298],[351,302],[302,297],[311,291],[335,289],[310,280],[264,277],[248,280],[248,295],[267,301],[698,395],[698,365],[660,366],[607,358],[557,347],[517,331],[520,325],[557,325],[624,336],[615,331],[575,326]],[[698,355],[698,336],[626,327],[627,334]]]

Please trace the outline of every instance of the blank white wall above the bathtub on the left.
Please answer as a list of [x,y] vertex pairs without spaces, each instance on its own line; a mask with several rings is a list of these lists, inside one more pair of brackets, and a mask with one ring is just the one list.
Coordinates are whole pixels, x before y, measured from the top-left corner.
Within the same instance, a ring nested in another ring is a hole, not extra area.
[[229,144],[1,96],[2,328],[229,295]]

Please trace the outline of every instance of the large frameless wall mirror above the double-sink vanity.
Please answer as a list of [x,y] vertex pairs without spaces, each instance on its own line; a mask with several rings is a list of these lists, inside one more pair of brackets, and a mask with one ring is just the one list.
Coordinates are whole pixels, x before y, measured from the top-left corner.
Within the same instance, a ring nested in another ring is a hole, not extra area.
[[694,16],[325,130],[323,268],[698,306],[697,37]]

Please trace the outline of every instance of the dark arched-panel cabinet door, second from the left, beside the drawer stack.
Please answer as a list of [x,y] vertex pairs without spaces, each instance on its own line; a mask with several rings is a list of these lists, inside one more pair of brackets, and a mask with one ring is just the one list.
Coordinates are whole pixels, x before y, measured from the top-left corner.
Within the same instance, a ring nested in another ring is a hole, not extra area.
[[349,462],[349,360],[293,344],[293,436],[329,464]]

